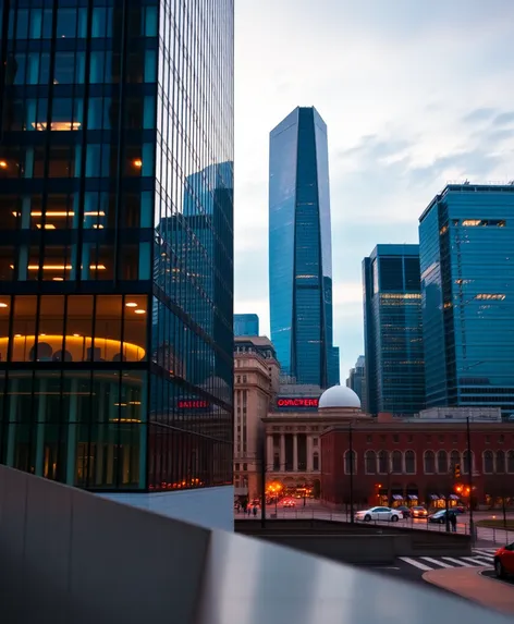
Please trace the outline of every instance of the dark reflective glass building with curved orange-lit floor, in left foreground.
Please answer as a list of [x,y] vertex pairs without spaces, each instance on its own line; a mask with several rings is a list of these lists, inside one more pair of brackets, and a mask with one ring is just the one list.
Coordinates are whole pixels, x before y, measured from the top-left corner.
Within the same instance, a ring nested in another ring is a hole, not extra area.
[[231,484],[233,1],[0,20],[0,461]]

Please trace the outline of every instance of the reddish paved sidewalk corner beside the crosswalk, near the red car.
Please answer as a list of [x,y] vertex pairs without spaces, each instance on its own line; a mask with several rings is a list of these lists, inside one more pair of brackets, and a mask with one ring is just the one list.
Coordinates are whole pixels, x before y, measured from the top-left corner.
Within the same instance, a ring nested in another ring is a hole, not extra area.
[[424,580],[507,615],[514,615],[514,585],[481,576],[487,567],[431,570]]

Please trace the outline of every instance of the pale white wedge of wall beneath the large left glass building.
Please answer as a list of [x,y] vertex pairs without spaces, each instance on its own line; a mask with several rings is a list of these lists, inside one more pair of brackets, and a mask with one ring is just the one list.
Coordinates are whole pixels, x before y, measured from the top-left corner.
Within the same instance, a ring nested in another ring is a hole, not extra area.
[[121,492],[100,495],[203,527],[234,530],[232,486],[174,492]]

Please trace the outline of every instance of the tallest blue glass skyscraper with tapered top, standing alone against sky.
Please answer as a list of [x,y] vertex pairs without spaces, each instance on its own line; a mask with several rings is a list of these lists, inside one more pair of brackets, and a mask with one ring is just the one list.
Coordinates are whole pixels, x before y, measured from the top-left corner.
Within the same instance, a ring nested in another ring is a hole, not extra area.
[[270,134],[271,340],[296,383],[339,383],[332,335],[332,241],[327,125],[296,108]]

